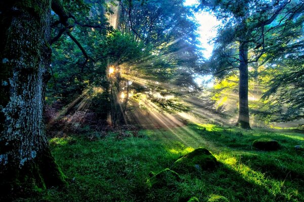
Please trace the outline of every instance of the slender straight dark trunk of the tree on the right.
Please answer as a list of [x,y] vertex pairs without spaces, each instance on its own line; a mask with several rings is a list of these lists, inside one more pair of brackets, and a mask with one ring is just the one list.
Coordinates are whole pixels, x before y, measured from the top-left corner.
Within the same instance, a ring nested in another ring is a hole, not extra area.
[[237,126],[250,129],[248,107],[248,44],[240,42],[239,119]]

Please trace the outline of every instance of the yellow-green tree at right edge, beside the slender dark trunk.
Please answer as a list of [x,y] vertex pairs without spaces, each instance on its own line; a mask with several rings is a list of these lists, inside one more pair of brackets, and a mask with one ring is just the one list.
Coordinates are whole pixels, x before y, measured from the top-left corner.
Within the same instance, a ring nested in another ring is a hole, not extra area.
[[255,112],[262,119],[287,122],[304,118],[304,55],[301,51],[304,48],[303,40],[295,45],[298,48],[294,47],[293,53],[288,52],[288,56],[274,60],[276,67],[265,73],[270,74],[272,78],[270,87],[262,96],[265,105]]

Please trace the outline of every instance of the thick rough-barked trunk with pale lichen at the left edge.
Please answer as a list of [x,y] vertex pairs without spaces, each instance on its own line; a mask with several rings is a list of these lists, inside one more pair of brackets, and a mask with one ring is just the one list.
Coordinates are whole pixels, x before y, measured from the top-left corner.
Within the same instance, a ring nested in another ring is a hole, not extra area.
[[0,190],[6,196],[64,183],[43,123],[51,0],[11,2],[0,7]]

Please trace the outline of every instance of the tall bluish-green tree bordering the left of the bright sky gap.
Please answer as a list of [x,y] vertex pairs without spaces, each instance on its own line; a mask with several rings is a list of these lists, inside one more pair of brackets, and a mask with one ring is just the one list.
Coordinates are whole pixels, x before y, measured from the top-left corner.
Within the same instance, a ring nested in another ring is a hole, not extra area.
[[119,29],[143,42],[151,53],[132,64],[133,69],[139,72],[137,77],[148,81],[145,85],[149,89],[154,88],[161,94],[180,95],[198,88],[193,79],[202,61],[197,46],[198,24],[192,20],[192,10],[184,7],[183,2],[149,0],[143,5],[141,1],[121,2]]

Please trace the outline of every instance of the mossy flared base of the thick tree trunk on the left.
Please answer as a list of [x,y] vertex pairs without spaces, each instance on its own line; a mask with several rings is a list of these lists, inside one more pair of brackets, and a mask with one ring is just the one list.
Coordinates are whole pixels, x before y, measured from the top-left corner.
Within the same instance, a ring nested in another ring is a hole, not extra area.
[[27,197],[40,193],[52,186],[66,185],[66,177],[55,162],[49,148],[45,148],[33,161],[27,161],[19,168],[16,165],[1,167],[0,201],[16,197]]

